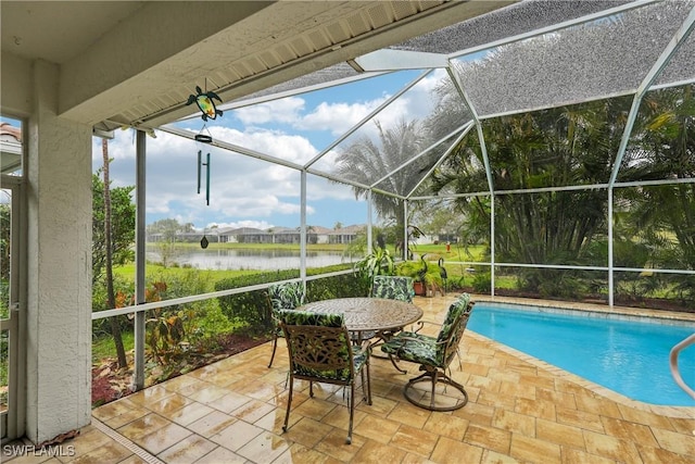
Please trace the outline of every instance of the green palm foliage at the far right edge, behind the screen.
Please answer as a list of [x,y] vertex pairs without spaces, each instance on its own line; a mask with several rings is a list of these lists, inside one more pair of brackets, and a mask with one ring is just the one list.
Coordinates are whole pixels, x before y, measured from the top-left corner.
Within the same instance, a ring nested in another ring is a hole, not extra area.
[[[619,180],[695,177],[695,86],[648,92],[643,99]],[[635,247],[650,250],[655,267],[695,269],[695,184],[626,188],[627,227]],[[675,285],[682,298],[695,294],[695,279],[660,275],[652,280]]]

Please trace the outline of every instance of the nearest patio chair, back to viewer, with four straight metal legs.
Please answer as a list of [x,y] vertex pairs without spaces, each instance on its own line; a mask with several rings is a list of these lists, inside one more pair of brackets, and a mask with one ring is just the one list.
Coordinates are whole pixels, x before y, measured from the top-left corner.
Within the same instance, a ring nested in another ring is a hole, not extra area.
[[[314,397],[314,383],[350,387],[348,398],[350,423],[346,443],[352,442],[355,410],[355,381],[359,374],[367,404],[371,404],[369,378],[370,347],[365,341],[353,347],[342,314],[319,314],[305,311],[279,311],[280,326],[290,355],[290,394],[282,430],[287,431],[294,389],[294,379],[308,380],[308,394]],[[366,377],[366,381],[365,381]]]

